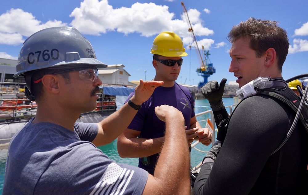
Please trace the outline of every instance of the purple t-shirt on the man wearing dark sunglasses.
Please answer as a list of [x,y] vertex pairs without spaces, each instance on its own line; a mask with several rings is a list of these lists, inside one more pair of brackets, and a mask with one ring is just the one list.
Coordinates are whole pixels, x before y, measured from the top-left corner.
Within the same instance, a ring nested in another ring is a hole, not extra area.
[[[132,92],[128,96],[128,99],[134,94],[135,92]],[[137,112],[128,129],[141,131],[140,138],[152,139],[163,137],[165,123],[157,118],[154,108],[164,104],[173,106],[181,111],[185,119],[185,125],[189,129],[190,119],[195,116],[194,99],[188,88],[177,83],[170,88],[157,87],[152,96],[141,105],[142,108]],[[138,166],[153,174],[157,157],[158,154],[154,154],[148,158],[139,158]]]

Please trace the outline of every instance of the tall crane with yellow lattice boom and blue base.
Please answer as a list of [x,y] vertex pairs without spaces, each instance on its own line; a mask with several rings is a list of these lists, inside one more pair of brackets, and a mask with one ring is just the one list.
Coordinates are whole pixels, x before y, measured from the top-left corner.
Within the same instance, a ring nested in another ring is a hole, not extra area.
[[210,53],[209,53],[209,50],[208,51],[204,50],[203,45],[202,45],[202,54],[204,55],[204,58],[202,58],[200,49],[198,47],[198,42],[197,42],[195,33],[193,32],[193,27],[190,23],[184,2],[181,2],[181,4],[183,6],[184,15],[185,15],[186,20],[188,22],[188,32],[190,32],[192,37],[193,37],[194,48],[196,49],[197,57],[198,57],[198,60],[199,60],[199,63],[200,63],[200,68],[197,68],[196,72],[198,73],[199,76],[203,77],[203,82],[200,82],[198,84],[198,88],[201,88],[201,87],[203,87],[204,84],[206,84],[208,82],[208,77],[216,72],[216,69],[213,68],[213,63],[209,63],[210,62],[210,60],[209,60]]

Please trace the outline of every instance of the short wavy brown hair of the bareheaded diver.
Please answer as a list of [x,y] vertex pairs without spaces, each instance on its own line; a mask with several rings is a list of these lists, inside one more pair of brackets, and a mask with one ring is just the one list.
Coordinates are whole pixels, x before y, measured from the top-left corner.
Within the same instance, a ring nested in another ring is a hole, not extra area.
[[269,48],[274,48],[278,58],[278,68],[286,60],[289,51],[289,39],[286,30],[278,27],[279,22],[249,18],[232,27],[227,39],[230,43],[240,38],[250,38],[250,48],[256,51],[256,56],[261,57]]

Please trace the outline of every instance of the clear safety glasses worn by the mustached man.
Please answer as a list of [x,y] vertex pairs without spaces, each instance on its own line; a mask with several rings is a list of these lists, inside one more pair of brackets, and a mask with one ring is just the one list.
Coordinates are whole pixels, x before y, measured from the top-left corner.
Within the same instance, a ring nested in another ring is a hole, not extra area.
[[[71,72],[71,71],[78,71],[78,70],[79,70],[79,78],[81,78],[83,80],[88,80],[88,81],[91,81],[91,82],[95,82],[97,77],[98,77],[98,69],[97,68],[67,69],[67,70],[62,70],[62,71],[54,72],[52,74],[55,75],[55,74],[59,74],[59,73],[63,73],[63,72]],[[42,80],[42,78],[40,78],[38,80],[35,80],[34,83],[39,83]]]

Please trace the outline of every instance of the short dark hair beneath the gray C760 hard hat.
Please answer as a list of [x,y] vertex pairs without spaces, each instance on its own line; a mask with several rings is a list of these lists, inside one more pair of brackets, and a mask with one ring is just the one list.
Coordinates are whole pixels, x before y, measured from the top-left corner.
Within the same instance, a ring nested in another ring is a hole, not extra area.
[[[32,75],[31,83],[30,83],[30,88],[31,88],[30,90],[31,90],[31,93],[35,97],[35,101],[39,101],[42,98],[42,96],[43,96],[43,93],[42,93],[43,92],[43,84],[42,84],[42,82],[34,83],[34,81],[42,78],[44,75],[52,74],[54,72],[59,72],[59,71],[62,71],[62,70],[63,69],[44,68],[44,69],[40,69],[40,70],[35,71],[33,74],[26,74],[25,75],[25,77]],[[71,83],[69,72],[62,72],[62,73],[59,73],[59,75],[61,75],[64,78],[66,84],[70,84]],[[28,83],[27,83],[27,85],[29,86]]]

